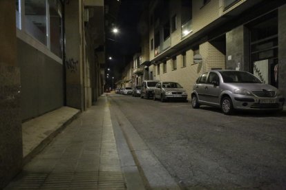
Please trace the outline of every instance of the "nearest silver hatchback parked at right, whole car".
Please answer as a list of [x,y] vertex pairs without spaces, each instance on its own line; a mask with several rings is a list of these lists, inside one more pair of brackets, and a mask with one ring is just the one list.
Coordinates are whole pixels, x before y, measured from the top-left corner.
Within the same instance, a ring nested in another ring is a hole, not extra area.
[[235,109],[283,110],[285,98],[276,87],[261,83],[253,74],[236,70],[213,70],[202,74],[191,93],[191,105],[220,107],[224,114]]

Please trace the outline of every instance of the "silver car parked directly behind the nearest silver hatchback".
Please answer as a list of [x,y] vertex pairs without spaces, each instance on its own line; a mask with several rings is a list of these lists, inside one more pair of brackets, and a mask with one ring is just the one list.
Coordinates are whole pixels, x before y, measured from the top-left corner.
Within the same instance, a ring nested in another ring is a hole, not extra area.
[[160,99],[161,102],[168,100],[187,101],[186,90],[175,82],[159,82],[155,85],[153,100]]

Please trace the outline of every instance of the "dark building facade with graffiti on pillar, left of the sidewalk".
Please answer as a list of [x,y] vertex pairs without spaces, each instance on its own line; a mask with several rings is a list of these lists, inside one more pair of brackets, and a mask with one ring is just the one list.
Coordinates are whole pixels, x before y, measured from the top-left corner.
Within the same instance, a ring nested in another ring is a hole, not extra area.
[[2,189],[23,165],[21,123],[90,107],[102,94],[105,58],[103,0],[3,0],[0,10]]

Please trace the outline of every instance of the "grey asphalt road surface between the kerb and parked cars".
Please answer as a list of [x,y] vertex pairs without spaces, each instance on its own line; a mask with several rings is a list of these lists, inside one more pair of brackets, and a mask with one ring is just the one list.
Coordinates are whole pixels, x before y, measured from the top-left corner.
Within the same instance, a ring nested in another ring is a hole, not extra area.
[[180,187],[286,189],[286,114],[192,109],[109,94]]

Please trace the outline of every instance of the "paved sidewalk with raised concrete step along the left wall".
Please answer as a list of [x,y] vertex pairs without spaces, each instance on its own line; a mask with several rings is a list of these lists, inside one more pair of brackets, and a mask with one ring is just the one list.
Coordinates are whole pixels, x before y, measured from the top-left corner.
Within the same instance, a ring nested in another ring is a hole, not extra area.
[[6,189],[144,189],[106,96],[78,113],[64,107],[23,125],[25,160],[35,157]]

